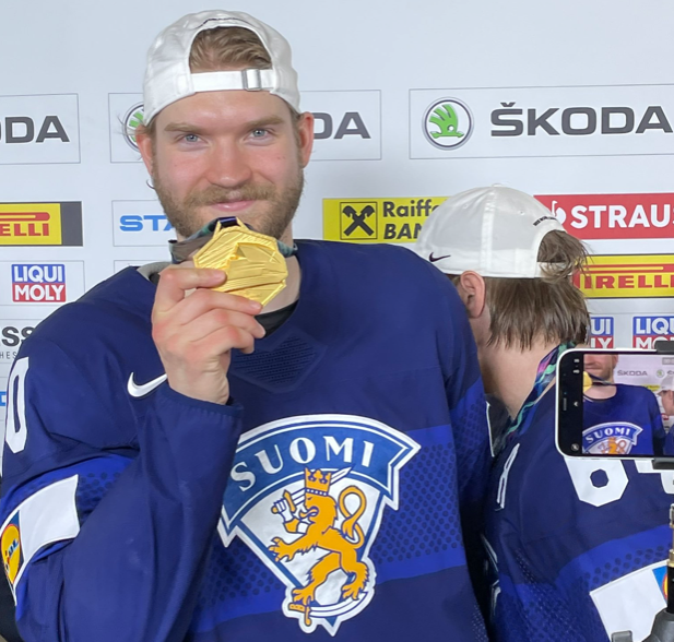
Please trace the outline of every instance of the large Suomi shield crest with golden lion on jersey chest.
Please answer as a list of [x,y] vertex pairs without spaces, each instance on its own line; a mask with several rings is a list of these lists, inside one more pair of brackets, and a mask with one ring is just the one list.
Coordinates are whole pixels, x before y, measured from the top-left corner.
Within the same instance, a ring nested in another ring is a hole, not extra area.
[[282,605],[309,633],[334,635],[375,594],[369,549],[385,507],[398,510],[399,472],[419,450],[366,417],[311,415],[241,436],[220,534],[240,537],[287,586]]

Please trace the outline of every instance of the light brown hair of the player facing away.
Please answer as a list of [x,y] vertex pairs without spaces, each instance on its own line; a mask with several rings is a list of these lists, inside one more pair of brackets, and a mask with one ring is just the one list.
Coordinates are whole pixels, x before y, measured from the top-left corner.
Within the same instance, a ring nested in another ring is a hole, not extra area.
[[[582,343],[590,314],[582,293],[572,284],[588,252],[577,238],[551,231],[539,248],[539,262],[548,263],[539,278],[484,277],[489,308],[489,344],[531,349],[533,342]],[[452,276],[454,284],[460,276]]]

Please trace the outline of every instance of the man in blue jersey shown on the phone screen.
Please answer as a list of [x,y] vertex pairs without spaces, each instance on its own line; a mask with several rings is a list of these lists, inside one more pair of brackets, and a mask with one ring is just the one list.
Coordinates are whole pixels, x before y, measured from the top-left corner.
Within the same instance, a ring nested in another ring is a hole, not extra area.
[[583,400],[584,452],[662,456],[665,431],[658,400],[648,388],[616,384],[617,364],[617,355],[584,356],[584,370],[594,382]]

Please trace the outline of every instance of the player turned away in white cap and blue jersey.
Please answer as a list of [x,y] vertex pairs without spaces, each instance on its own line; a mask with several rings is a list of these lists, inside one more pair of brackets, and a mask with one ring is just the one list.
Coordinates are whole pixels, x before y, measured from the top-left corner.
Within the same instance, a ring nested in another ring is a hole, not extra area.
[[665,604],[671,474],[555,448],[555,365],[589,323],[571,284],[582,245],[535,199],[493,187],[438,207],[417,249],[457,282],[485,390],[510,415],[486,506],[494,640],[642,640]]

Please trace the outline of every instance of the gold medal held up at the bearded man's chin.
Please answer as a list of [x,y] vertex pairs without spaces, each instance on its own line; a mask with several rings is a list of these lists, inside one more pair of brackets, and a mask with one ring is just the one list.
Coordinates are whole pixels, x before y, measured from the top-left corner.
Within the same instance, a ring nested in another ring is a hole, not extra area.
[[228,292],[265,306],[284,287],[288,272],[275,238],[248,229],[240,221],[223,227],[193,257],[196,268],[214,268],[227,281],[213,289]]

